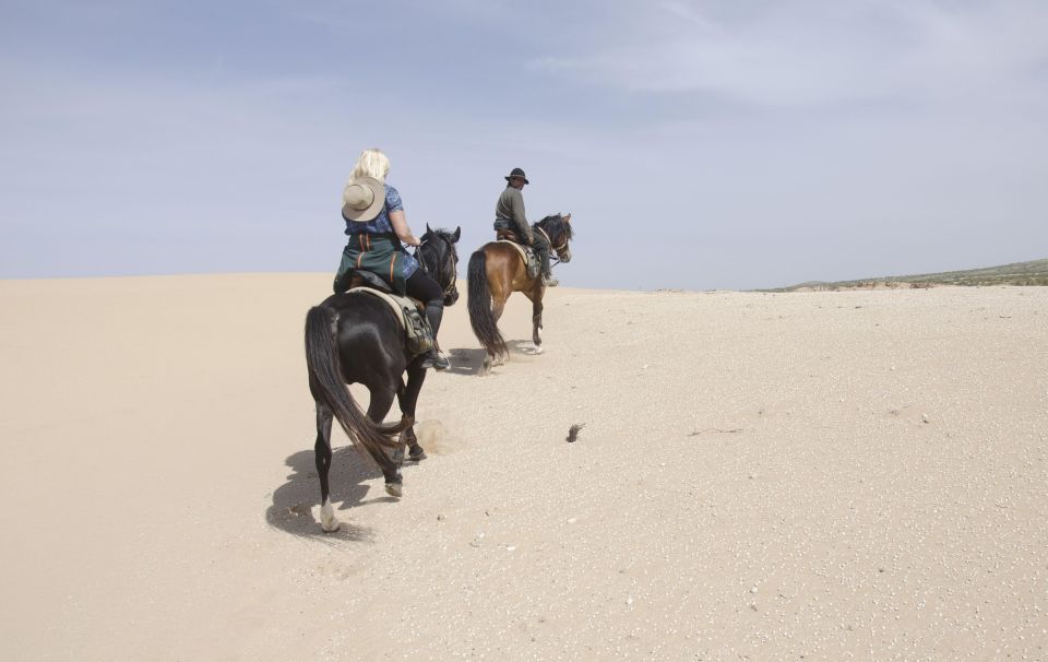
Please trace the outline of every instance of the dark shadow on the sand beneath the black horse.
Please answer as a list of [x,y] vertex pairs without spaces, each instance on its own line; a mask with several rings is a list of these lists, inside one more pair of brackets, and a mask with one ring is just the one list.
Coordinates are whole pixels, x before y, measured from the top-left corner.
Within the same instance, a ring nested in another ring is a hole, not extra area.
[[[302,537],[337,544],[338,541],[371,542],[374,537],[369,527],[358,527],[340,517],[342,527],[334,533],[324,533],[313,511],[320,505],[320,478],[312,449],[289,456],[285,463],[291,468],[287,482],[273,490],[273,504],[265,510],[265,521],[271,527]],[[331,500],[342,503],[340,511],[374,503],[393,503],[395,498],[382,496],[367,498],[371,485],[367,482],[381,477],[382,472],[365,460],[352,446],[332,451],[327,484]],[[337,512],[337,511],[336,511]]]

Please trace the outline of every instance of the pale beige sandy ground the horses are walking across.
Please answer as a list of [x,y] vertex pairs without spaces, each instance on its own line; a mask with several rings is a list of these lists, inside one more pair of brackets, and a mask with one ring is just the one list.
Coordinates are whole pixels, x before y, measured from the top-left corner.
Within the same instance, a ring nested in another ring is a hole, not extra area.
[[325,535],[329,281],[0,282],[0,659],[1048,659],[1048,288],[463,296]]

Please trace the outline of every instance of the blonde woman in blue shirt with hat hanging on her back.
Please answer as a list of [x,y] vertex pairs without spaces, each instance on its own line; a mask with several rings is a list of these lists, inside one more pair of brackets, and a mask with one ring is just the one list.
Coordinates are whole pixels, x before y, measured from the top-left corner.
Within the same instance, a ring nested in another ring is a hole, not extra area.
[[[389,173],[390,158],[381,150],[365,150],[349,174],[342,192],[342,217],[349,241],[342,251],[334,289],[336,294],[348,289],[355,270],[376,273],[400,294],[426,303],[426,319],[436,338],[444,314],[444,292],[401,245],[418,246],[419,240],[407,225],[401,194],[385,184]],[[438,370],[449,365],[436,348],[422,363]]]

